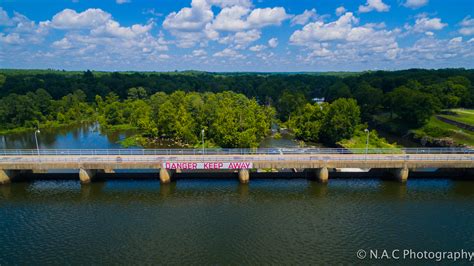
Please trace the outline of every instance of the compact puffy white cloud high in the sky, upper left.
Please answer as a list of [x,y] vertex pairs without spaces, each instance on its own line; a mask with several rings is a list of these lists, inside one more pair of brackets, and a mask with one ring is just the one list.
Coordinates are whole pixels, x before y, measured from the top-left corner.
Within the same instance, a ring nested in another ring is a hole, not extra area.
[[64,9],[53,16],[49,26],[56,29],[93,29],[110,21],[112,16],[102,9],[90,8],[77,13],[72,9]]

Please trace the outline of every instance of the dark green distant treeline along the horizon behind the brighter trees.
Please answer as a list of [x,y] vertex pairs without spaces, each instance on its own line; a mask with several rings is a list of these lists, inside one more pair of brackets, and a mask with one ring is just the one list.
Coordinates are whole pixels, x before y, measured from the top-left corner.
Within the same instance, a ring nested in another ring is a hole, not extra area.
[[178,90],[234,91],[255,98],[262,105],[274,106],[282,121],[287,121],[291,113],[315,97],[325,97],[328,102],[354,98],[361,108],[363,121],[370,122],[374,115],[388,113],[415,126],[443,108],[474,107],[472,84],[474,70],[465,69],[411,69],[350,75],[0,71],[0,97],[10,93],[27,94],[40,88],[55,100],[82,90],[89,102],[94,101],[96,95],[105,97],[111,92],[125,100],[128,90],[134,87],[143,87],[149,95]]

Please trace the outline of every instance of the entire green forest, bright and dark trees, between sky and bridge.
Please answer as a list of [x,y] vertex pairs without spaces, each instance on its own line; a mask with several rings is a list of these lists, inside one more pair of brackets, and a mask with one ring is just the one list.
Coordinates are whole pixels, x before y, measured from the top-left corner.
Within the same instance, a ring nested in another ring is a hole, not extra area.
[[[446,109],[474,107],[474,70],[360,73],[0,70],[0,131],[86,120],[146,138],[255,147],[272,125],[327,145],[367,126],[399,135]],[[325,98],[315,103],[314,98]],[[371,133],[372,134],[372,133]],[[376,133],[374,133],[376,134]]]

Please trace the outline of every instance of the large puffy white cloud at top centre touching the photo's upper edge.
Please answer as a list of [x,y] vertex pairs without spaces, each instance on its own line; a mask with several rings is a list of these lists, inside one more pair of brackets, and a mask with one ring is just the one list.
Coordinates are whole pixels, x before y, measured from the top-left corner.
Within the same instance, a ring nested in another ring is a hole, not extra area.
[[[213,6],[221,8],[215,17]],[[178,47],[218,41],[244,49],[260,38],[260,28],[280,25],[290,17],[282,7],[252,9],[249,0],[193,0],[191,7],[170,13],[163,28],[176,37]]]

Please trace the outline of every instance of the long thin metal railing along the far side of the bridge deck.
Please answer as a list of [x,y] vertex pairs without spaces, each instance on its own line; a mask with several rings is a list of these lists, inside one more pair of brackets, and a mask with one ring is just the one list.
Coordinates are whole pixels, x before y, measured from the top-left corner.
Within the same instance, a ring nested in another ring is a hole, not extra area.
[[312,155],[312,154],[474,154],[470,148],[259,148],[259,149],[3,149],[0,156],[96,155]]

